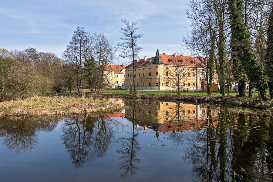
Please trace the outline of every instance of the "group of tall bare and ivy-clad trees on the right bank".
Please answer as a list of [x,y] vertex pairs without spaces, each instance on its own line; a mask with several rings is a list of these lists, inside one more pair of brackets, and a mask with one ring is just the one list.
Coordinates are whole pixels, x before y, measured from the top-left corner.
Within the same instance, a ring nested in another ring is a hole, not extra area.
[[192,55],[205,58],[207,88],[217,74],[222,95],[236,82],[238,96],[246,95],[248,84],[248,96],[256,89],[261,99],[267,99],[269,89],[273,98],[272,3],[265,0],[189,1],[186,13],[191,30],[183,37],[183,45]]

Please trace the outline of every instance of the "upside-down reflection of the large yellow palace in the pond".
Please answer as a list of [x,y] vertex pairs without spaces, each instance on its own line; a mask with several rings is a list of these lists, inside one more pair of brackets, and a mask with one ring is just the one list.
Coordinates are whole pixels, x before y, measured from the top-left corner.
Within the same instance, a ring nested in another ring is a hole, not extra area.
[[[144,129],[151,128],[159,133],[198,129],[207,118],[207,108],[202,105],[154,100],[125,100],[125,106],[127,119],[132,121],[134,117],[138,126],[143,126]],[[135,108],[134,111],[133,108]],[[217,108],[211,110],[214,122],[217,121],[218,111]]]

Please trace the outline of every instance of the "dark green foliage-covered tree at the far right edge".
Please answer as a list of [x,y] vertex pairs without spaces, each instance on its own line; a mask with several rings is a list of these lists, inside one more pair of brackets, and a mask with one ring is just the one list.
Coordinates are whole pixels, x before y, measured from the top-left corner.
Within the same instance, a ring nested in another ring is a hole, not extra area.
[[273,99],[273,9],[268,19],[265,68],[268,76],[270,99]]

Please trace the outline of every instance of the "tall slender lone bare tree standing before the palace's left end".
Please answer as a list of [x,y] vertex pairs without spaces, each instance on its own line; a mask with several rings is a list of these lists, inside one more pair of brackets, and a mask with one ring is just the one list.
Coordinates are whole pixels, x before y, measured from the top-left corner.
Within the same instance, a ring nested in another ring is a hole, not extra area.
[[133,87],[134,87],[134,94],[137,94],[136,91],[136,83],[135,83],[135,58],[137,57],[138,53],[143,49],[142,47],[138,46],[138,39],[143,36],[143,34],[136,34],[136,31],[139,29],[136,27],[136,22],[129,22],[126,19],[121,19],[121,21],[125,24],[125,28],[121,28],[120,33],[123,37],[120,39],[123,41],[118,45],[122,49],[120,57],[122,58],[130,58],[133,62]]

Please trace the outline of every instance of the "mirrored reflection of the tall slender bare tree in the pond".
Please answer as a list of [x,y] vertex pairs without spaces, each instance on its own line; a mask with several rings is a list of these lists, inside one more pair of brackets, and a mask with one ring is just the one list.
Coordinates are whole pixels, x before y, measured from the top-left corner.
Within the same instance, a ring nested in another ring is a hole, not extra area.
[[137,141],[138,133],[135,132],[135,110],[136,110],[136,102],[133,103],[133,127],[132,127],[132,137],[129,138],[120,138],[119,140],[122,142],[122,149],[117,150],[117,153],[121,153],[122,156],[119,158],[123,160],[120,165],[120,169],[124,169],[125,172],[120,176],[120,178],[125,179],[126,176],[130,173],[130,175],[136,174],[136,170],[138,169],[135,166],[135,163],[142,162],[137,158],[137,152],[141,149],[140,144]]

